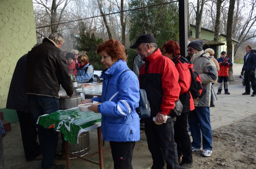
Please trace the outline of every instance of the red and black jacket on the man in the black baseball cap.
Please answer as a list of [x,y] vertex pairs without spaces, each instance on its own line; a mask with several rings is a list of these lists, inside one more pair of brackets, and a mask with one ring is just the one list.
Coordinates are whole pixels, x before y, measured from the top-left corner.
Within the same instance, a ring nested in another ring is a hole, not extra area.
[[158,112],[168,115],[174,109],[174,102],[178,100],[180,95],[179,73],[174,63],[161,54],[160,49],[157,49],[152,55],[144,59],[145,63],[140,69],[140,88],[146,90],[150,104],[151,116],[149,121],[152,121],[152,117],[155,117]]

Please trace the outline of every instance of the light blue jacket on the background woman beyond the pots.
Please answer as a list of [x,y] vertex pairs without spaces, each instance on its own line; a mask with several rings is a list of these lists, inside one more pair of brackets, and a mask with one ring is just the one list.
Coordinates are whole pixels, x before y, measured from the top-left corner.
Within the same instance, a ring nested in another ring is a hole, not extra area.
[[[88,67],[87,71],[85,72],[86,67]],[[79,83],[88,82],[93,77],[93,66],[86,64],[83,68],[78,67],[76,72],[76,80]]]

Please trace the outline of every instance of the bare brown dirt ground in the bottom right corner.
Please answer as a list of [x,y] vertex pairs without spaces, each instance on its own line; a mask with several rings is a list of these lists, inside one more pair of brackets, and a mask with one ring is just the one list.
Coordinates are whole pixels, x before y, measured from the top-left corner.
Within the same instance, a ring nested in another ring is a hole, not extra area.
[[213,153],[193,152],[195,169],[256,169],[256,114],[212,131]]

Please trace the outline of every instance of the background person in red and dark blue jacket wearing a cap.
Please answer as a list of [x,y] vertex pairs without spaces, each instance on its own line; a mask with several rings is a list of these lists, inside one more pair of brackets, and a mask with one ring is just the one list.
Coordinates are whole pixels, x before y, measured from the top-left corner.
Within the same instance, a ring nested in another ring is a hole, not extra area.
[[230,94],[230,92],[228,92],[228,67],[233,66],[233,63],[227,57],[227,54],[225,51],[222,51],[220,53],[220,58],[218,58],[217,61],[220,65],[220,71],[218,72],[218,93],[217,94],[221,93],[223,81],[224,81],[225,94]]

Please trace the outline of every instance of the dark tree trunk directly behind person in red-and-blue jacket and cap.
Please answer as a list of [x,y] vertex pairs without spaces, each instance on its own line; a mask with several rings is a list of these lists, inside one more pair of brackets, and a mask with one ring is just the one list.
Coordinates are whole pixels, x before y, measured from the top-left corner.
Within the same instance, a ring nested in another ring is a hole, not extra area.
[[[228,20],[227,20],[227,56],[230,56],[230,59],[232,61],[232,53],[233,53],[233,46],[232,46],[232,24],[233,24],[233,15],[234,15],[234,7],[235,7],[236,0],[230,0],[229,2],[229,8],[228,8]],[[233,62],[233,61],[232,61]],[[233,69],[230,67],[229,73],[228,73],[228,79],[229,81],[233,81]]]

